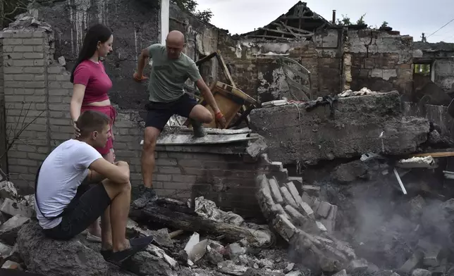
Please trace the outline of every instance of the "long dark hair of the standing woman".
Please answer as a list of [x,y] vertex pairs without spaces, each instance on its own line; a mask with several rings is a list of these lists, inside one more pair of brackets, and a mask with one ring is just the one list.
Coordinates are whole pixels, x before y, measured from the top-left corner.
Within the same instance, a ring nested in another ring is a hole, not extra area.
[[77,68],[82,61],[86,61],[94,55],[98,42],[106,42],[111,35],[111,30],[102,24],[93,25],[88,29],[87,35],[85,35],[84,38],[84,43],[82,44],[82,49],[80,49],[78,61],[74,65],[73,72],[71,72],[71,82],[74,82],[75,68]]

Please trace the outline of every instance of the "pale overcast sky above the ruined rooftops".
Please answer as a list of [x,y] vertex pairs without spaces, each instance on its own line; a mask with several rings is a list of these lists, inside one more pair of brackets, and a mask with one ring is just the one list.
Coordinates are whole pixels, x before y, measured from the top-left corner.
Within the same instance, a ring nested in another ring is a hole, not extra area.
[[[264,27],[279,15],[286,13],[298,0],[197,0],[198,8],[210,8],[214,13],[211,23],[231,34],[243,34],[257,27]],[[388,22],[401,35],[411,35],[421,40],[424,32],[428,37],[440,27],[454,19],[453,0],[306,0],[309,8],[331,20],[333,10],[337,18],[348,15],[356,22],[366,13],[368,25],[380,26]],[[454,42],[454,21],[431,35],[428,42]]]

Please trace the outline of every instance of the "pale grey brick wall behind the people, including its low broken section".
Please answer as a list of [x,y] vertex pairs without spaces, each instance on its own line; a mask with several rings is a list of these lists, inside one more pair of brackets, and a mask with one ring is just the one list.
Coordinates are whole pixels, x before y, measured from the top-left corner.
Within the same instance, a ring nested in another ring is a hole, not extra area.
[[[52,57],[51,33],[30,29],[6,30],[3,35],[3,76],[9,106],[6,123],[13,129],[21,125],[28,106],[25,122],[39,115],[8,152],[11,180],[22,192],[32,192],[37,165],[73,135],[69,113],[73,85],[69,82],[70,73]],[[118,111],[114,125],[116,158],[130,164],[131,182],[139,186],[143,122],[137,111]],[[259,208],[254,198],[257,172],[274,168],[279,175],[282,168],[266,162],[245,163],[245,147],[241,151],[238,145],[235,151],[229,149],[228,146],[160,147],[154,174],[157,193],[177,199],[203,195],[224,209],[257,215]]]

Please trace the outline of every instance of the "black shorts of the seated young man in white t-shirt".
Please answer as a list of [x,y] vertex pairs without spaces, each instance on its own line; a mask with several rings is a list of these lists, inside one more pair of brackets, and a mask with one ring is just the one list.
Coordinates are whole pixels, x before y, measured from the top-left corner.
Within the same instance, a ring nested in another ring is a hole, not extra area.
[[96,221],[110,204],[111,199],[103,184],[81,184],[65,208],[60,224],[45,229],[44,234],[51,239],[71,239]]

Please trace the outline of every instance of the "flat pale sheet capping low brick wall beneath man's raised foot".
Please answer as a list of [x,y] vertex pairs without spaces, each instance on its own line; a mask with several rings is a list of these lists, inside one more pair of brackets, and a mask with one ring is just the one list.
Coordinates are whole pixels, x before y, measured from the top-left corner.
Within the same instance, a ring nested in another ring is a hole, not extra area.
[[[164,134],[164,133],[163,133]],[[194,137],[194,134],[168,134],[159,135],[157,145],[158,146],[170,146],[170,145],[195,145],[195,144],[229,144],[234,142],[248,141],[257,139],[257,137],[249,137],[248,133],[241,134],[207,134],[204,137]],[[140,144],[143,144],[140,142]]]

